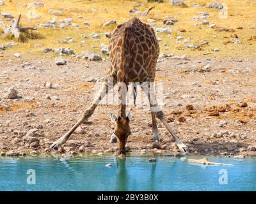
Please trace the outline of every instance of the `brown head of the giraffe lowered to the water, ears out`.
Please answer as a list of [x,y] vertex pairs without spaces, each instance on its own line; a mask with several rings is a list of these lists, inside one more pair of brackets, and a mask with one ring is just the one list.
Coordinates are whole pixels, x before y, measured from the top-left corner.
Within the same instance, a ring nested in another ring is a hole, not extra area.
[[112,113],[110,113],[111,121],[115,124],[114,134],[118,138],[118,155],[125,156],[125,145],[128,139],[128,136],[131,135],[130,129],[130,120],[131,113],[127,115],[127,117],[118,116],[116,117]]

